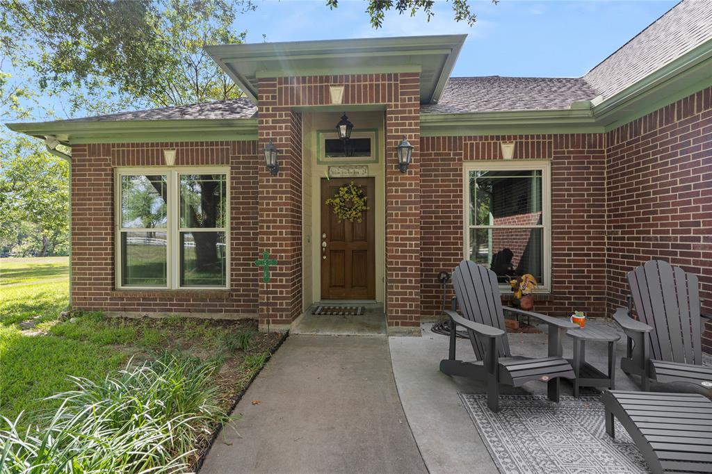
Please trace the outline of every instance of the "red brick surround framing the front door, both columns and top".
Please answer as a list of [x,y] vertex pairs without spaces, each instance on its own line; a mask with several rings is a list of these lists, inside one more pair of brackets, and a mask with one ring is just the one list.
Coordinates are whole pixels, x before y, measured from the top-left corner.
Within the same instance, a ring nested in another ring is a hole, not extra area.
[[[260,196],[276,204],[260,204],[261,245],[275,248],[280,261],[276,279],[262,288],[277,300],[261,313],[261,322],[287,324],[301,309],[301,159],[298,127],[293,107],[329,105],[330,85],[344,85],[344,105],[384,104],[386,137],[386,310],[391,328],[418,330],[420,324],[420,177],[419,177],[419,75],[356,74],[303,78],[263,78],[259,84],[258,135],[260,147],[272,138],[286,157],[280,174],[260,175]],[[347,107],[346,107],[347,108]],[[298,125],[299,123],[299,125]],[[403,136],[414,145],[413,164],[407,174],[397,169],[395,149]],[[282,156],[282,155],[281,155]],[[291,201],[290,196],[293,197]],[[297,204],[298,203],[298,204]],[[298,271],[297,271],[298,270]],[[261,306],[262,308],[262,306]]]

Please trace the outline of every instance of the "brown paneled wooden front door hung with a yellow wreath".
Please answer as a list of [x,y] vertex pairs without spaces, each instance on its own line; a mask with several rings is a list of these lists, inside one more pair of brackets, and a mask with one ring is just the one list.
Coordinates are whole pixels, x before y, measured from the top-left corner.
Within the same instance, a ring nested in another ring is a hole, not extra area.
[[[351,181],[367,196],[361,222],[340,221],[324,204]],[[376,297],[375,193],[373,178],[321,179],[321,298],[374,300]]]

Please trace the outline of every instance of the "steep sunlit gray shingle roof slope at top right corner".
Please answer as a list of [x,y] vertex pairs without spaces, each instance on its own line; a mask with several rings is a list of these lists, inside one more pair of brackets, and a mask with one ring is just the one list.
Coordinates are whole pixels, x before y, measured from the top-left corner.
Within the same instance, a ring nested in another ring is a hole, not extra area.
[[712,0],[684,0],[583,78],[605,98],[712,39]]

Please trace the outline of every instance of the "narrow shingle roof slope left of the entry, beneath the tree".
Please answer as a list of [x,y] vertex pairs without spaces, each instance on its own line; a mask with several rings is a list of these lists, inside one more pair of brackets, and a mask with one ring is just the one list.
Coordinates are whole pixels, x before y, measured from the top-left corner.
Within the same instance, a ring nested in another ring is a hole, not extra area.
[[214,100],[200,104],[177,105],[159,109],[119,112],[73,119],[80,122],[105,122],[110,120],[183,120],[183,119],[240,119],[251,118],[257,113],[257,106],[248,98]]

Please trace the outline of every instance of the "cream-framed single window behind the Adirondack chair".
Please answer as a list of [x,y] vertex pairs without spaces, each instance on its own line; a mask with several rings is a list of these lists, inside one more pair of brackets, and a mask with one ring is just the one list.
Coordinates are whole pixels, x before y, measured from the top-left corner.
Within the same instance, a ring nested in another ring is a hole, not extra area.
[[550,289],[549,162],[465,164],[465,258],[490,268],[502,289],[530,273]]

